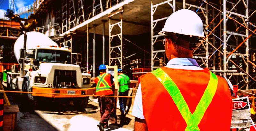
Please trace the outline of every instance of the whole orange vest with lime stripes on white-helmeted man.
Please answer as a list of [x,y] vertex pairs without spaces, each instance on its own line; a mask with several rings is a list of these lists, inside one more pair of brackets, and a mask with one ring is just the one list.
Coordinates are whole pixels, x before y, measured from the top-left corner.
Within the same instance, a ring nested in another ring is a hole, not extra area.
[[230,130],[230,90],[209,69],[162,67],[141,76],[140,83],[149,131]]

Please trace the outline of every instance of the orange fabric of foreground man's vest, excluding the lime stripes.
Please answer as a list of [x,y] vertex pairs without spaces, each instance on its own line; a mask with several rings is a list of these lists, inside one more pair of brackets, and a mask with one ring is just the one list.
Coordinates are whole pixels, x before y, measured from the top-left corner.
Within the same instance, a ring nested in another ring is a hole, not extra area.
[[[161,68],[176,84],[190,112],[193,114],[210,80],[209,69],[183,70]],[[232,119],[232,99],[227,82],[216,77],[217,88],[209,106],[198,124],[201,131],[230,130]],[[140,77],[143,114],[149,131],[184,131],[187,122],[174,99],[153,73]],[[171,88],[172,89],[172,88]],[[179,97],[178,100],[181,100]],[[205,100],[204,100],[205,101]],[[196,116],[196,115],[195,115]]]

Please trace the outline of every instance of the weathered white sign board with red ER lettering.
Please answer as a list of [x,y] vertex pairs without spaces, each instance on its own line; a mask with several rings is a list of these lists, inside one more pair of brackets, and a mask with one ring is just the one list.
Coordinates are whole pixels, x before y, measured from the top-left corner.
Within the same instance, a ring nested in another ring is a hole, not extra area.
[[231,128],[247,128],[251,125],[251,108],[249,98],[233,99]]

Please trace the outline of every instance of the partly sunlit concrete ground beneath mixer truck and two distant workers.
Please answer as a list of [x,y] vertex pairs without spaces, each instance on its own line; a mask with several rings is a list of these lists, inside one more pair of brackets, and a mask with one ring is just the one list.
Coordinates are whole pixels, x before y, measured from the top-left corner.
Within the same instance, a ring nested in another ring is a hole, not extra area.
[[[86,111],[77,111],[72,103],[63,103],[44,100],[40,106],[34,110],[21,95],[8,95],[11,104],[18,104],[20,112],[17,117],[16,131],[98,131],[97,124],[100,120],[100,110],[98,104],[90,101]],[[19,98],[19,99],[18,99]],[[117,116],[121,114],[117,109]],[[120,122],[121,121],[121,122]],[[111,124],[105,131],[132,131],[134,117],[126,115],[119,118],[118,124]]]

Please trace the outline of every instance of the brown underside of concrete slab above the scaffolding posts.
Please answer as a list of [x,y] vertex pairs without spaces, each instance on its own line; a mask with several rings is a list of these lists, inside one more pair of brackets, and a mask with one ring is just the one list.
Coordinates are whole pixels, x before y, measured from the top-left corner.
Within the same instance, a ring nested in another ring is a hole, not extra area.
[[[163,2],[163,0],[154,0],[153,4],[158,4]],[[171,2],[172,3],[172,2]],[[123,6],[123,35],[140,35],[147,32],[150,32],[150,0],[135,0],[129,4]],[[159,19],[162,17],[169,16],[172,13],[172,8],[168,4],[161,5],[154,14],[154,19]],[[94,16],[95,17],[95,16]],[[117,14],[111,19],[112,22],[120,21],[121,15]],[[102,20],[105,20],[105,35],[109,35],[109,18],[108,15],[105,15],[99,19],[96,19],[90,22],[89,33],[93,33],[93,25],[96,26],[96,34],[102,35],[103,33],[103,23]],[[87,25],[84,25],[76,29],[77,33],[86,33]],[[120,32],[119,27],[114,27],[114,34]]]

